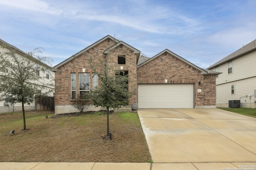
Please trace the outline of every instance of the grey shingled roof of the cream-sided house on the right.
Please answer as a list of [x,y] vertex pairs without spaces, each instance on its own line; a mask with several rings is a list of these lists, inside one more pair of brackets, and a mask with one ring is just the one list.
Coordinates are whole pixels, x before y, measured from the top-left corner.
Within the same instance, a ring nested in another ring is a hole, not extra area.
[[217,63],[215,64],[212,64],[211,66],[209,66],[207,69],[212,69],[216,66],[219,66],[220,64],[223,64],[223,63],[227,63],[231,60],[234,60],[238,57],[241,57],[245,54],[248,54],[252,51],[256,50],[256,39],[254,39],[252,42],[248,43],[247,45],[245,45],[244,47],[236,50],[234,53],[228,55],[227,57],[225,57],[224,59],[221,59],[220,61],[218,61]]

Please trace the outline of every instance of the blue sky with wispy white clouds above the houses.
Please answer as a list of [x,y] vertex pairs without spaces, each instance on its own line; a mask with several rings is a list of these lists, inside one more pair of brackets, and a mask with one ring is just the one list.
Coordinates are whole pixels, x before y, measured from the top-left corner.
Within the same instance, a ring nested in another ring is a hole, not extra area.
[[106,35],[207,68],[256,39],[255,0],[0,0],[0,39],[52,66]]

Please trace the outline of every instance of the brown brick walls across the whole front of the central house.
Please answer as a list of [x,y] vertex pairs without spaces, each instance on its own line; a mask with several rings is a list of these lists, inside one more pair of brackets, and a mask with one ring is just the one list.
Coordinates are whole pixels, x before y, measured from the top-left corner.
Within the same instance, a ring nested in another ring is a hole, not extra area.
[[[94,65],[100,65],[106,62],[106,57],[102,52],[112,47],[114,44],[112,40],[110,40],[110,42],[107,40],[102,41],[100,44],[58,68],[55,73],[56,106],[71,104],[70,73],[76,73],[76,93],[78,93],[78,73],[82,72],[82,68],[86,68],[85,72],[92,72],[89,64],[90,58],[92,58]],[[118,64],[118,55],[126,56],[126,64]],[[133,92],[130,98],[130,104],[137,103],[137,83],[165,84],[165,79],[168,79],[169,84],[194,84],[195,107],[216,106],[215,75],[203,75],[201,71],[169,53],[166,55],[162,54],[137,69],[134,51],[124,45],[120,45],[108,54],[108,63],[115,70],[120,70],[120,66],[122,65],[124,66],[123,70],[128,71],[130,79],[129,90]],[[100,69],[100,67],[98,69]],[[201,82],[201,84],[198,84],[198,82]],[[92,88],[92,74],[90,74],[90,88]],[[198,89],[202,89],[202,92],[198,92]]]

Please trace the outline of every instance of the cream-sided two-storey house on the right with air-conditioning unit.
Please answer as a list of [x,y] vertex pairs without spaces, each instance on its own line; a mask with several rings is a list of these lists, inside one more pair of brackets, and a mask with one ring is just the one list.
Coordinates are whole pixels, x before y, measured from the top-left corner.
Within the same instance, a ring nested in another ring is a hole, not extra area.
[[240,100],[240,107],[256,108],[255,43],[256,39],[208,67],[223,72],[216,76],[217,107],[238,107],[232,100]]

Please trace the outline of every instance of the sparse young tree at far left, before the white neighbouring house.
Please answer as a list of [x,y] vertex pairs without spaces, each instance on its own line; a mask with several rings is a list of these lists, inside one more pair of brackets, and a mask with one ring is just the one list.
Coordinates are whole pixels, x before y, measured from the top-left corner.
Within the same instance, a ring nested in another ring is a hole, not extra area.
[[[24,130],[24,104],[33,102],[35,95],[44,96],[52,92],[47,86],[54,87],[52,80],[38,75],[40,71],[50,70],[44,63],[52,61],[49,57],[40,57],[38,54],[42,53],[41,50],[42,48],[36,48],[32,52],[24,53],[9,44],[0,43],[0,101],[22,104]],[[39,82],[41,85],[38,85]]]

